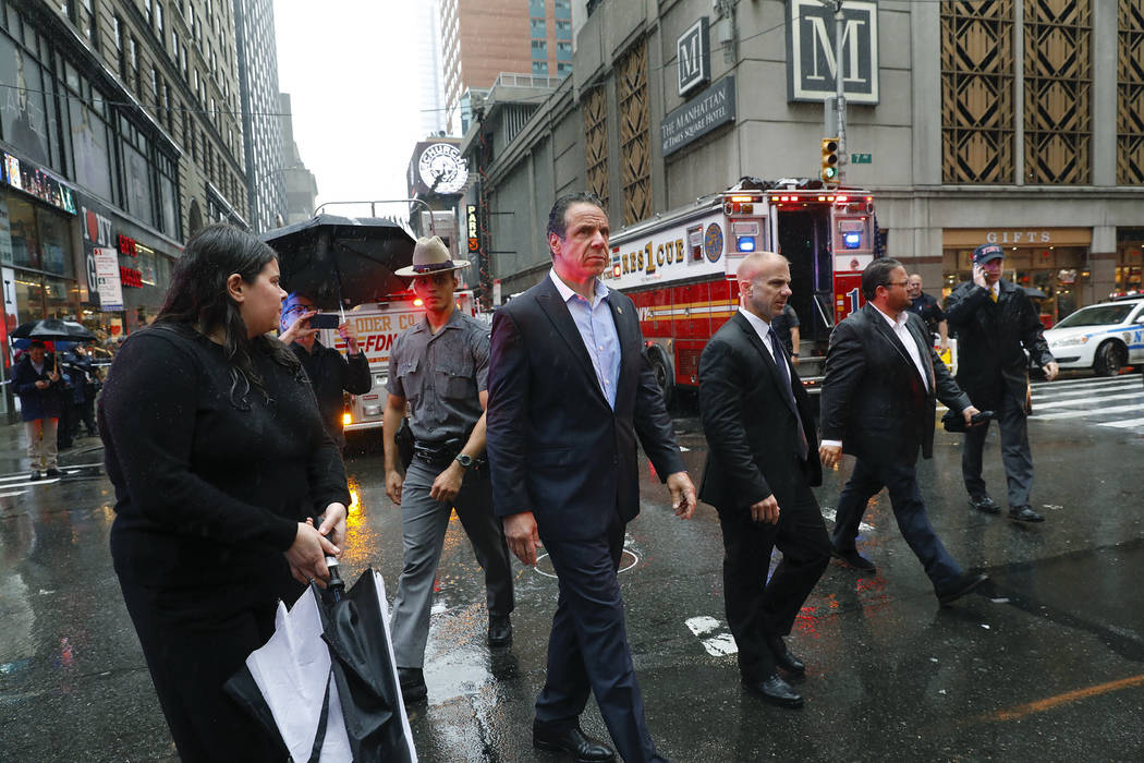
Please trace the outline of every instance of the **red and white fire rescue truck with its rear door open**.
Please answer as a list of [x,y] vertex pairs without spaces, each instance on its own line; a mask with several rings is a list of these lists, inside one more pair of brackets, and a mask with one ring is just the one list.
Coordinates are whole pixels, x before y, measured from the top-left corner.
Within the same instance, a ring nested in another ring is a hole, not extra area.
[[625,228],[610,246],[604,283],[635,302],[645,352],[668,402],[677,389],[698,389],[699,355],[738,309],[734,273],[752,252],[791,261],[789,304],[801,345],[813,350],[800,353],[799,373],[817,394],[829,332],[865,303],[861,270],[881,255],[868,191],[791,178],[745,177]]

